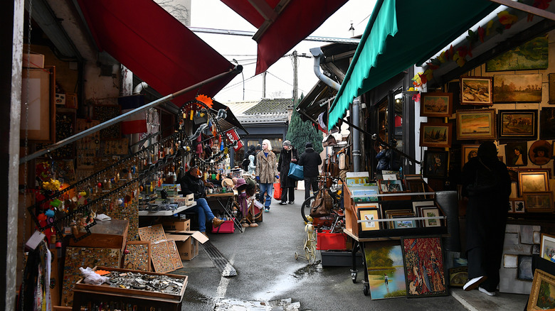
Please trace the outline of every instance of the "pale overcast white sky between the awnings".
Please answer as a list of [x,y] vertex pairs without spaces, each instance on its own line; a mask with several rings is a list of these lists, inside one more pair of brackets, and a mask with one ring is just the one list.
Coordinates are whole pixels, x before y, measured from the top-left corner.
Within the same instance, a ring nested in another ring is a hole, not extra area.
[[[299,1],[299,0],[297,0]],[[364,33],[375,0],[349,0],[336,13],[330,16],[322,26],[310,36],[332,38],[350,38],[349,28],[354,27],[354,36]],[[248,21],[240,17],[220,0],[191,0],[191,27],[217,28],[233,31],[256,31]],[[196,33],[208,45],[218,51],[224,58],[233,62],[237,60],[243,66],[243,75],[237,75],[224,87],[214,99],[218,102],[239,102],[243,100],[259,100],[263,96],[262,75],[255,76],[256,42],[248,36],[230,36],[211,33]],[[329,43],[302,41],[286,55],[297,50],[297,54],[308,56],[311,48]],[[314,75],[313,58],[297,58],[297,82],[299,96],[307,94],[317,82]],[[243,77],[245,91],[243,95]],[[293,62],[291,57],[284,57],[268,68],[266,75],[266,98],[291,98],[293,93]]]

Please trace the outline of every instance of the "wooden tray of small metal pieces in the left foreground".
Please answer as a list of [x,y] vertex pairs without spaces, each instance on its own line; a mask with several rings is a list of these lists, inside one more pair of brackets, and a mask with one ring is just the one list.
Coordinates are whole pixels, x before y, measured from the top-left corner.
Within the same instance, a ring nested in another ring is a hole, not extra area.
[[181,302],[181,299],[183,298],[183,295],[185,293],[185,288],[187,287],[187,283],[189,282],[189,277],[187,275],[155,273],[155,272],[146,272],[146,271],[138,271],[138,270],[120,269],[120,268],[107,268],[107,267],[100,267],[100,266],[95,267],[95,270],[117,271],[121,273],[132,272],[132,273],[142,273],[147,275],[164,275],[164,276],[169,276],[171,278],[183,279],[184,283],[183,283],[183,288],[181,288],[179,295],[151,292],[149,290],[136,290],[132,288],[111,287],[110,285],[107,285],[107,284],[102,284],[102,285],[85,284],[85,283],[82,283],[83,278],[81,278],[80,280],[78,280],[77,283],[75,283],[75,290],[90,291],[90,292],[99,293],[99,294],[103,293],[106,295],[125,295],[125,296],[133,295],[137,298]]

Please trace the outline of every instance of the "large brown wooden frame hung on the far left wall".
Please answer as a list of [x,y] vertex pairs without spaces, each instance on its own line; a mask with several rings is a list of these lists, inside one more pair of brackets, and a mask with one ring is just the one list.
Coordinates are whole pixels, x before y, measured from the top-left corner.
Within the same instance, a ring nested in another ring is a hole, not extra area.
[[36,143],[56,142],[55,94],[55,66],[21,71],[21,140],[27,137],[28,141]]

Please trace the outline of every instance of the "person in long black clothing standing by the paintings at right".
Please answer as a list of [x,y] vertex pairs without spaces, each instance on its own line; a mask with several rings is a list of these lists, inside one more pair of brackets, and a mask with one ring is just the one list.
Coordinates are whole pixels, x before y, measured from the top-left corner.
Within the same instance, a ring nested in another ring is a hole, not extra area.
[[479,287],[480,292],[495,295],[510,194],[511,178],[507,166],[497,159],[497,147],[492,142],[482,143],[478,155],[462,168],[462,196],[468,199],[468,282],[464,290]]

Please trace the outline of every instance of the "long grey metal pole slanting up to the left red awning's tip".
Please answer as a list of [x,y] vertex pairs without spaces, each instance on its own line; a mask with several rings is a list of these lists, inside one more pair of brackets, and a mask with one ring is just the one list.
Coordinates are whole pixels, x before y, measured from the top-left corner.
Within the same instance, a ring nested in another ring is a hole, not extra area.
[[166,95],[165,97],[157,99],[154,102],[149,102],[148,104],[145,104],[145,105],[143,105],[143,106],[141,106],[137,109],[133,109],[132,111],[128,111],[125,114],[122,114],[120,116],[116,116],[115,118],[110,119],[108,121],[105,121],[104,123],[98,124],[97,126],[93,126],[90,129],[86,129],[85,131],[82,131],[80,133],[76,133],[75,135],[70,136],[68,138],[65,138],[61,141],[58,141],[57,143],[53,143],[51,146],[48,146],[47,148],[36,151],[35,153],[27,155],[24,158],[20,158],[19,159],[19,164],[21,165],[21,164],[26,163],[30,160],[38,158],[41,155],[45,155],[46,153],[50,153],[51,151],[55,151],[56,149],[58,149],[60,147],[63,147],[65,145],[67,145],[68,143],[73,143],[74,141],[77,141],[80,138],[83,138],[83,137],[88,136],[92,133],[100,131],[101,129],[105,129],[108,126],[116,124],[117,122],[125,120],[125,119],[129,118],[129,116],[132,116],[134,114],[138,114],[139,112],[144,111],[146,109],[156,107],[157,105],[162,104],[163,102],[168,102],[169,100],[174,99],[175,97],[179,97],[180,95],[185,94],[186,92],[190,92],[194,89],[198,89],[199,87],[203,86],[204,84],[208,84],[210,82],[219,80],[219,79],[221,79],[223,77],[226,77],[228,75],[238,74],[241,71],[243,71],[243,66],[237,65],[236,67],[233,67],[233,69],[229,70],[228,72],[223,72],[219,75],[215,75],[215,76],[213,76],[211,78],[208,78],[208,79],[206,79],[202,82],[194,84],[191,87],[186,87],[185,89],[181,89],[180,91],[177,91],[175,93]]

